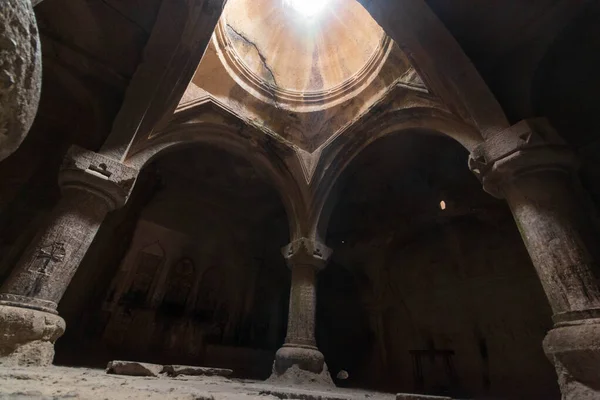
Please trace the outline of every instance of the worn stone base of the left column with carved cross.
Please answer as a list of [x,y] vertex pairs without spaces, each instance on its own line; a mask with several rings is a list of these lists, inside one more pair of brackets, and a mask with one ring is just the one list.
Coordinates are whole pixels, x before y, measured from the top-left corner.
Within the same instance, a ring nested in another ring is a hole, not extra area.
[[46,366],[54,359],[54,342],[65,332],[55,314],[0,305],[0,364]]

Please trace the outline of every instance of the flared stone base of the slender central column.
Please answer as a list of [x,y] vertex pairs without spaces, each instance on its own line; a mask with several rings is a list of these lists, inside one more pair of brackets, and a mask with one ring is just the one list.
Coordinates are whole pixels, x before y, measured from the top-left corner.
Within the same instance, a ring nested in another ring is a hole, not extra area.
[[335,386],[325,357],[316,347],[284,344],[275,354],[272,383],[291,385]]

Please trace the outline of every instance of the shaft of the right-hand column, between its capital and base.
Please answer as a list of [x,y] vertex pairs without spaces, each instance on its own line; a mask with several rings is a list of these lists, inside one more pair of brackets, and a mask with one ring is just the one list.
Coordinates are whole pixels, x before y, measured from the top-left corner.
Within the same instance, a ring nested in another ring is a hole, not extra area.
[[587,245],[593,236],[576,184],[572,173],[557,168],[525,173],[504,187],[555,322],[600,309],[597,265]]

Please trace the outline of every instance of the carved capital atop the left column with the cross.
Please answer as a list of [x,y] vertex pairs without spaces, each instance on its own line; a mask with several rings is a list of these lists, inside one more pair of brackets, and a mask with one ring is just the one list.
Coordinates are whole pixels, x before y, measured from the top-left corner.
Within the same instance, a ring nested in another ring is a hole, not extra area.
[[127,202],[138,170],[79,146],[72,146],[58,174],[62,190],[85,190],[102,198],[109,210]]

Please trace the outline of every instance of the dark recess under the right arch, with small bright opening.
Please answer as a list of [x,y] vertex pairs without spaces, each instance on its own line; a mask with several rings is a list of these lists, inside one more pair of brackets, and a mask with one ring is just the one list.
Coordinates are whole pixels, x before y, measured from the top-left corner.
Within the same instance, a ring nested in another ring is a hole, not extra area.
[[439,132],[406,129],[365,144],[338,175],[316,323],[332,375],[349,375],[336,383],[558,393],[539,346],[552,325],[544,293],[508,208],[483,192],[467,156]]

